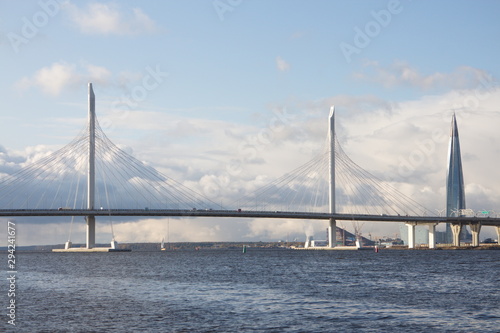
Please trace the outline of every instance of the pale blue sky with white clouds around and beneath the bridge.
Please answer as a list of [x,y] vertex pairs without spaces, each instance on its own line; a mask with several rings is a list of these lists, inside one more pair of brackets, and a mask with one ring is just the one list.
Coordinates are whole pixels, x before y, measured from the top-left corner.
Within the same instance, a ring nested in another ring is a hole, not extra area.
[[[234,199],[228,184],[250,191],[312,159],[335,105],[350,158],[438,214],[455,113],[467,207],[500,212],[499,14],[498,1],[1,0],[0,175],[85,127],[92,82],[115,144],[217,202]],[[69,222],[17,221],[19,245],[68,238]],[[167,233],[275,241],[324,238],[326,224],[186,218],[113,228],[118,242]],[[109,223],[97,228],[108,242]],[[362,231],[394,237],[399,226]],[[71,237],[84,241],[84,222]],[[496,237],[492,227],[486,237]]]

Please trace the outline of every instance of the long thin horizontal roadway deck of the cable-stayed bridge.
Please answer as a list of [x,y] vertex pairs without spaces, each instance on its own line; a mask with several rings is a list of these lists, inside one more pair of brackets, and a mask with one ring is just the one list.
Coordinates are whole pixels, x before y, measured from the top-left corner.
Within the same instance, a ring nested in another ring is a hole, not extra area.
[[184,210],[184,209],[0,209],[0,216],[173,216],[173,217],[239,217],[304,220],[416,222],[416,223],[481,223],[500,226],[494,217],[443,217],[408,215],[330,214],[309,212],[250,211],[250,210]]

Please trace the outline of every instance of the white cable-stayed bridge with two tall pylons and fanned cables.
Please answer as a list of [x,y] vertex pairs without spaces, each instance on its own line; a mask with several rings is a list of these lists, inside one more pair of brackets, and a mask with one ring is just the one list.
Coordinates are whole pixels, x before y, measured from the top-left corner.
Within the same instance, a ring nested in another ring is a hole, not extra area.
[[329,221],[330,247],[336,245],[337,220],[406,222],[410,237],[416,224],[428,224],[430,247],[435,243],[437,223],[471,225],[477,244],[481,225],[500,226],[500,218],[484,214],[431,216],[423,206],[354,163],[340,147],[334,128],[332,108],[323,153],[229,207],[221,207],[111,142],[96,119],[89,84],[87,127],[58,151],[0,178],[0,216],[85,216],[87,248],[95,244],[96,216],[324,219]]

